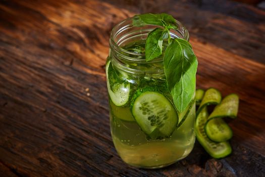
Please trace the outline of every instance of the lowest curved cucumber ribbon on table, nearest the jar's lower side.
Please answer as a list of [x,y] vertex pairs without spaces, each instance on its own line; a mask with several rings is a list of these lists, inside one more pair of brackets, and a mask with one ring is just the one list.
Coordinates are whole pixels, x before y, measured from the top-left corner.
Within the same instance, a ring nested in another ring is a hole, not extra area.
[[221,143],[216,143],[211,141],[205,132],[204,126],[207,121],[208,112],[207,108],[203,107],[200,113],[197,115],[195,121],[195,134],[199,143],[203,146],[205,151],[214,158],[224,158],[231,154],[232,148],[230,144],[225,141]]

